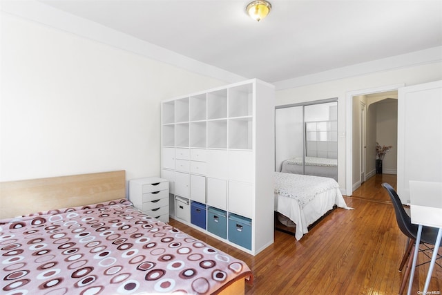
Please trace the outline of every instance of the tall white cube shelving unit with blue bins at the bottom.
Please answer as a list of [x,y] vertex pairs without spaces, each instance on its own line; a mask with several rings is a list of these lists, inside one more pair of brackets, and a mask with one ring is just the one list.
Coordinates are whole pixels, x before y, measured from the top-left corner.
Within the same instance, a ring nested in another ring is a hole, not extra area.
[[273,243],[274,87],[258,79],[162,102],[170,216],[258,254]]

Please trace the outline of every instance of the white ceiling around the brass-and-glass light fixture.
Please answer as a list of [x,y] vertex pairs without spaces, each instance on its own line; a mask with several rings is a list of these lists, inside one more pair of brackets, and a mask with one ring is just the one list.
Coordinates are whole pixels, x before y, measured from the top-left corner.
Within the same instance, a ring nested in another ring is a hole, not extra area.
[[442,0],[41,0],[204,64],[267,82],[442,46]]

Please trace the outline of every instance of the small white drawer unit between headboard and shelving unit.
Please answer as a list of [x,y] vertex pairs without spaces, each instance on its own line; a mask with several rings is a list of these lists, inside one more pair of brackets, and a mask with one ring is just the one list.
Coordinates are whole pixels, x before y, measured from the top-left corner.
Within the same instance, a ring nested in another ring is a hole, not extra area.
[[155,177],[129,180],[129,200],[148,216],[169,222],[169,180]]

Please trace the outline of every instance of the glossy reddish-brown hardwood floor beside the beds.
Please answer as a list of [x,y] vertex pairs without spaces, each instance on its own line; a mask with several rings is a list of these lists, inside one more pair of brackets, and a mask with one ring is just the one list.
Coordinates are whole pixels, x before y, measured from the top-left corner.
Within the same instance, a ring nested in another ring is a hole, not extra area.
[[[300,241],[275,231],[273,245],[256,256],[176,220],[169,223],[244,260],[254,275],[253,285],[246,284],[246,294],[397,294],[402,279],[398,266],[407,238],[398,229],[393,206],[381,188],[382,182],[396,187],[390,177],[376,175],[367,180],[354,196],[344,197],[354,210],[332,211]],[[418,263],[424,260],[419,254]],[[428,265],[416,268],[412,294],[421,294],[427,269]],[[442,292],[442,269],[437,265],[429,291]]]

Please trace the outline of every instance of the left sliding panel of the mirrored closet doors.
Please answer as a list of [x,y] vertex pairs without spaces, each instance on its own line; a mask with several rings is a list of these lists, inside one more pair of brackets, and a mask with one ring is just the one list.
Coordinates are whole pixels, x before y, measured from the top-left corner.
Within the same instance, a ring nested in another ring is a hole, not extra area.
[[[302,106],[275,110],[275,171],[303,174],[304,116]],[[299,162],[297,165],[287,161]]]

